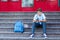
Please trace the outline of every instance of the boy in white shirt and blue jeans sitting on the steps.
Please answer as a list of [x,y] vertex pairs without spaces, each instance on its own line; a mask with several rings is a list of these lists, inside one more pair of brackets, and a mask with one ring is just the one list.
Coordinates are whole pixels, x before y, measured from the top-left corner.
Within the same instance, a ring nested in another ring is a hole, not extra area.
[[37,27],[38,25],[42,25],[43,36],[45,38],[47,38],[47,35],[46,35],[46,17],[44,15],[44,13],[42,13],[41,8],[37,10],[37,14],[35,14],[35,16],[33,18],[32,34],[30,35],[31,38],[34,37],[35,27]]

